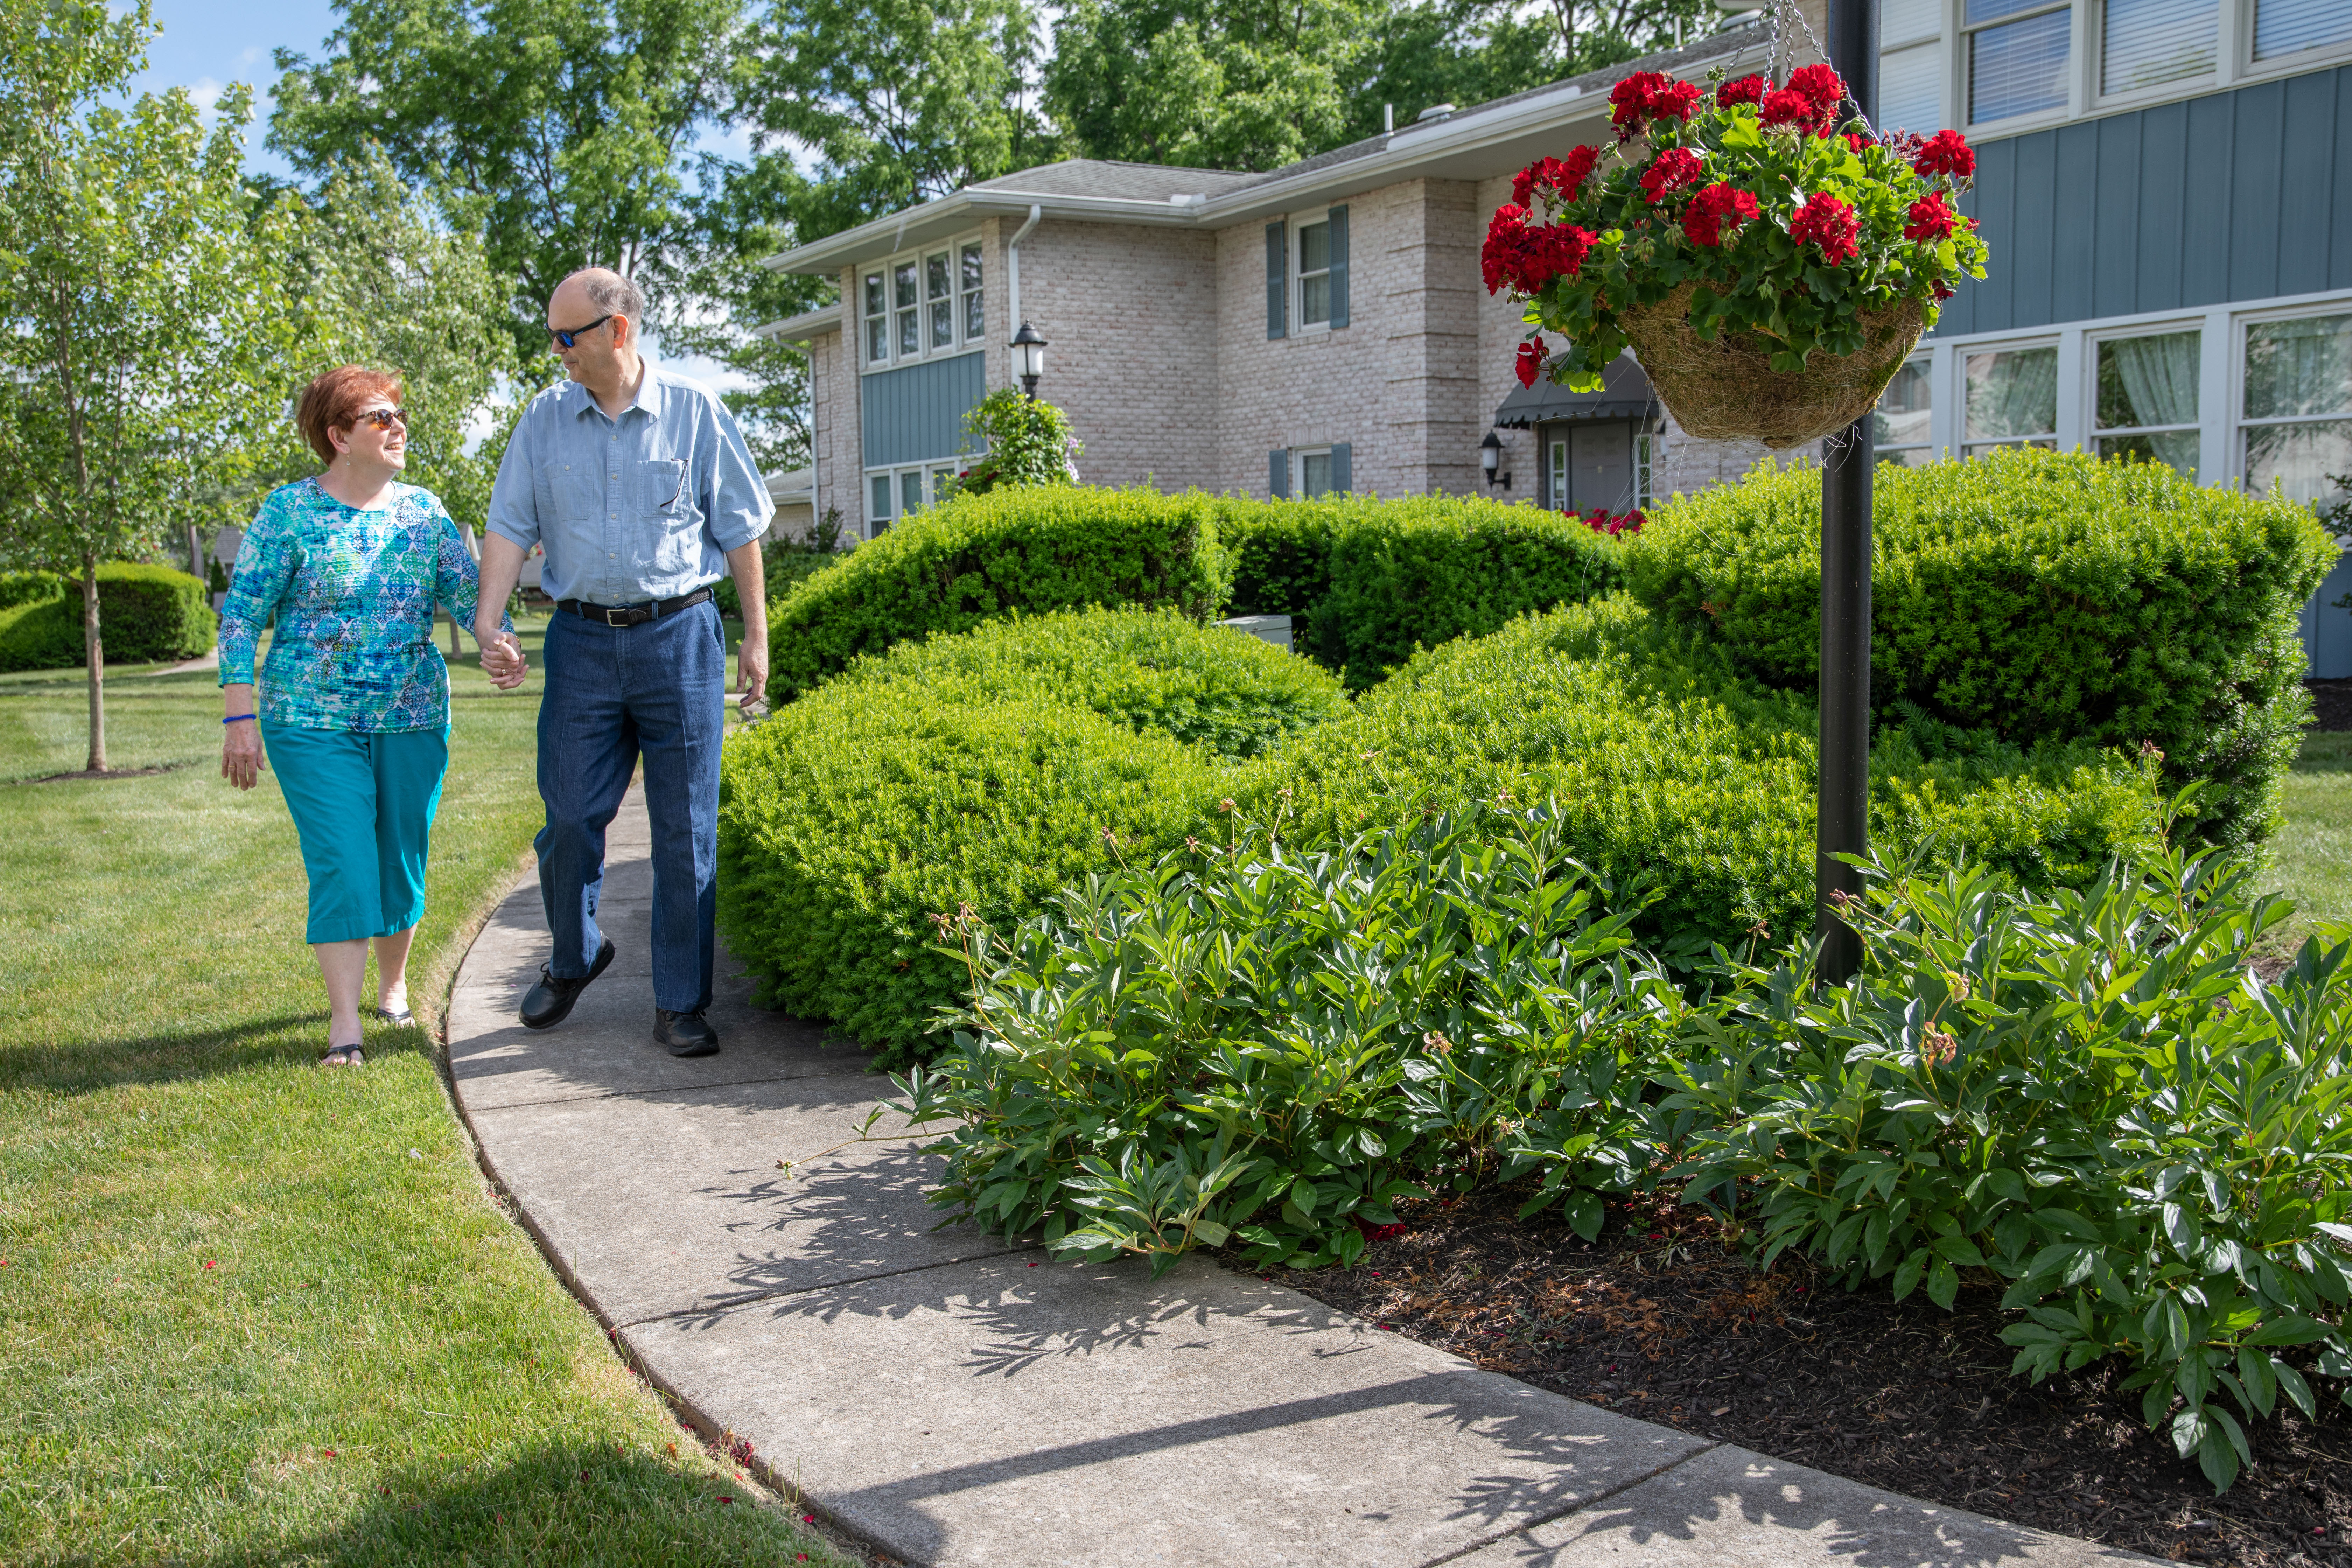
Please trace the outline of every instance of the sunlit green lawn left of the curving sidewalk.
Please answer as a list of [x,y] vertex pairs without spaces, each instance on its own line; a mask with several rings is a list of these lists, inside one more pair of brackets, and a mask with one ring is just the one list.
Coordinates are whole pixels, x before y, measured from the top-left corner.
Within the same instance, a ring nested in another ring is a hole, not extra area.
[[[421,1013],[539,823],[536,679],[452,677]],[[212,682],[108,686],[118,766],[195,766],[0,788],[0,1561],[844,1563],[616,1361],[423,1034],[313,1065],[294,830],[216,776]],[[80,715],[0,679],[5,776]]]

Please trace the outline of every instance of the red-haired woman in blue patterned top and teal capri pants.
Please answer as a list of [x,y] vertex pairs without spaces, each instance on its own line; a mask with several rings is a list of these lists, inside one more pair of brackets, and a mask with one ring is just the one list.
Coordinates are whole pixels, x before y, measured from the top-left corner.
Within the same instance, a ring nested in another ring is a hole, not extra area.
[[[426,907],[426,844],[449,769],[449,670],[433,607],[473,623],[475,567],[430,491],[400,484],[400,376],[343,364],[294,409],[325,473],[270,491],[221,607],[221,776],[252,790],[261,752],[310,875],[308,943],[327,978],[327,1067],[358,1067],[360,983],[376,945],[376,1018],[412,1023],[409,938]],[[275,621],[254,701],[254,644]],[[506,642],[485,654],[522,684]]]

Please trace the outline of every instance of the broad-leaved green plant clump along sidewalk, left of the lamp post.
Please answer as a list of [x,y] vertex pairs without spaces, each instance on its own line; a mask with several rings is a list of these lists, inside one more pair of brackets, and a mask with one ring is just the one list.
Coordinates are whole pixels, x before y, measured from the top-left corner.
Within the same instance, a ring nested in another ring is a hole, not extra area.
[[[1635,893],[1637,898],[1637,893]],[[953,1119],[934,1204],[1063,1253],[1355,1262],[1421,1180],[1573,1150],[1538,1201],[1592,1237],[1649,1166],[1644,1081],[1682,992],[1557,816],[1472,806],[1301,856],[1261,827],[1089,877],[997,936],[901,1086]]]

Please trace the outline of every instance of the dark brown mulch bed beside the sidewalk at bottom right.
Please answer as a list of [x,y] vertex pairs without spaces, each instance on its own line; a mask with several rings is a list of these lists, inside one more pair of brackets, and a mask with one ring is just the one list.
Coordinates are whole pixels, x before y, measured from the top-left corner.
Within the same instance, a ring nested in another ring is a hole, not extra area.
[[2249,1427],[2223,1497],[2140,1425],[2122,1371],[2011,1378],[1997,1288],[1957,1312],[1846,1293],[1804,1260],[1757,1272],[1670,1199],[1585,1244],[1522,1190],[1399,1206],[1352,1269],[1272,1269],[1423,1345],[1625,1415],[1853,1481],[2187,1563],[2352,1568],[2352,1410]]

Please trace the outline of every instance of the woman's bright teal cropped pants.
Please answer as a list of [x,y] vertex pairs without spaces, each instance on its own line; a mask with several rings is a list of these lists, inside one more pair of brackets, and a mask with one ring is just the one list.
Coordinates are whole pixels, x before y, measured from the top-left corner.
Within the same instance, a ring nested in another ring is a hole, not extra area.
[[449,729],[299,729],[261,722],[310,872],[306,943],[407,931],[426,912],[426,851]]

